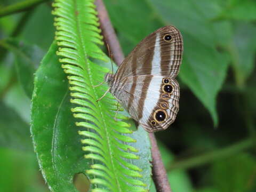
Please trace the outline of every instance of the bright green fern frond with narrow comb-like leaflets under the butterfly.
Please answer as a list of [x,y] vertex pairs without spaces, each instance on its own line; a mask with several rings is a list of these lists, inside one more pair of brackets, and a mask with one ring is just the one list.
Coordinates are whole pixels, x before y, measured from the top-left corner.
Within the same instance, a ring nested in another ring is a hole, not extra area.
[[139,156],[138,149],[129,142],[136,142],[129,136],[130,124],[121,121],[128,117],[118,114],[114,120],[117,101],[108,93],[96,102],[108,87],[93,87],[103,81],[109,69],[93,62],[93,59],[108,62],[109,58],[101,51],[102,36],[98,28],[97,12],[93,0],[55,0],[53,14],[56,39],[59,45],[58,55],[65,73],[68,74],[71,97],[76,105],[71,109],[78,119],[76,125],[81,130],[85,158],[92,159],[92,191],[147,191],[140,179],[141,168],[133,162]]

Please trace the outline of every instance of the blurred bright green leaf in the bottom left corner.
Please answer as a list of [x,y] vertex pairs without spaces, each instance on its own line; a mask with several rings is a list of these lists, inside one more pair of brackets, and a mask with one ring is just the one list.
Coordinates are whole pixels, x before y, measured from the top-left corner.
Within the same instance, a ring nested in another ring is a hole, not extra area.
[[0,157],[0,191],[49,192],[33,151],[1,147]]

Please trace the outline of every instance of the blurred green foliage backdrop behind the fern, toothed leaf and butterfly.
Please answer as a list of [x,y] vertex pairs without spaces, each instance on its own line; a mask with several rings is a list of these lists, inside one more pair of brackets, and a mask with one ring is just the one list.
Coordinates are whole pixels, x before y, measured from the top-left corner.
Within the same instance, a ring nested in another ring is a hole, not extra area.
[[[159,27],[183,35],[180,111],[156,133],[173,190],[255,191],[256,2],[104,2],[126,55]],[[29,135],[34,73],[54,38],[49,5],[0,18],[0,191],[49,191]]]

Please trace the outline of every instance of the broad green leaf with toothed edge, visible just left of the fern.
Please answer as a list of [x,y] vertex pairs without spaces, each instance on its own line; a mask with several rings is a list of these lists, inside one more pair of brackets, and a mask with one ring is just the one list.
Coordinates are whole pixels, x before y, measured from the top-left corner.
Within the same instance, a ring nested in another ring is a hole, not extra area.
[[77,191],[75,173],[84,172],[90,159],[83,158],[66,75],[55,55],[54,43],[35,75],[31,106],[31,133],[39,166],[52,191]]

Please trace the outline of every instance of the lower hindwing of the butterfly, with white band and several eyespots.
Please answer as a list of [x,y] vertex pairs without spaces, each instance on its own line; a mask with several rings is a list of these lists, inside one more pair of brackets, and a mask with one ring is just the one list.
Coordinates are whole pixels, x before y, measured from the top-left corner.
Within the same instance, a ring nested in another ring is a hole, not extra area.
[[179,110],[179,84],[170,77],[126,77],[115,96],[146,131],[165,130]]

